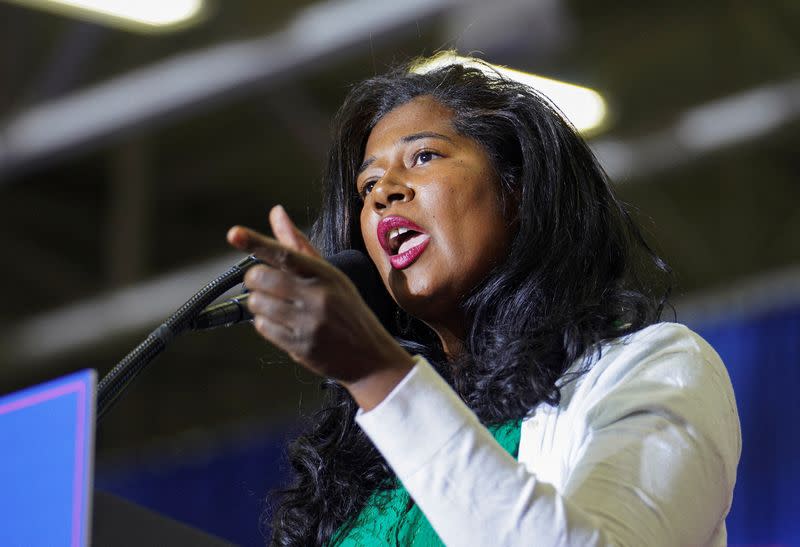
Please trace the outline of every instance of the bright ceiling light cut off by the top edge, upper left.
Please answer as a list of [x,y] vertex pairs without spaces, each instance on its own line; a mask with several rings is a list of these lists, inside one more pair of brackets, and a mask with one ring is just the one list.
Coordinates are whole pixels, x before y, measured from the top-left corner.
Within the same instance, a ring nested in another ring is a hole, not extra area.
[[60,15],[120,26],[130,30],[163,31],[196,22],[203,0],[10,0]]

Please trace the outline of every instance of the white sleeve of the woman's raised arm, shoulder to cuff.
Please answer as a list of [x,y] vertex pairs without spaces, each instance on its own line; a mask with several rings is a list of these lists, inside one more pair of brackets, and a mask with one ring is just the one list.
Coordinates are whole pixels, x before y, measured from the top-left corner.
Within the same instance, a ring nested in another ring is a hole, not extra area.
[[447,545],[724,543],[741,449],[730,382],[688,329],[646,331],[560,409],[558,487],[506,453],[422,358],[356,419]]

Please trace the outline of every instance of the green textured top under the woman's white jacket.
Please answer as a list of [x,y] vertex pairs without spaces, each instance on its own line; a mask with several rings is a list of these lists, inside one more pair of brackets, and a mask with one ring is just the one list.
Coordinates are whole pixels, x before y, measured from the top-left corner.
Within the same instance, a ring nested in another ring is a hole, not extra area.
[[[517,457],[521,420],[489,426],[495,440],[506,452]],[[395,480],[397,486],[377,491],[356,518],[349,530],[342,527],[329,546],[337,547],[432,547],[444,545],[411,496]],[[342,535],[342,532],[346,534]]]

